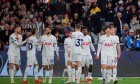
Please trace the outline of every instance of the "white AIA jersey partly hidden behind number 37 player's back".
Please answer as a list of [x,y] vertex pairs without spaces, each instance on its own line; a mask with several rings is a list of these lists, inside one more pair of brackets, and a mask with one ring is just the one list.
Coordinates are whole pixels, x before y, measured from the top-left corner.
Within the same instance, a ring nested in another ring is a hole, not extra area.
[[83,52],[86,54],[87,53],[91,54],[90,48],[93,51],[95,51],[95,48],[94,48],[92,41],[91,41],[91,37],[89,35],[86,35],[86,36],[84,36],[84,40],[83,40]]

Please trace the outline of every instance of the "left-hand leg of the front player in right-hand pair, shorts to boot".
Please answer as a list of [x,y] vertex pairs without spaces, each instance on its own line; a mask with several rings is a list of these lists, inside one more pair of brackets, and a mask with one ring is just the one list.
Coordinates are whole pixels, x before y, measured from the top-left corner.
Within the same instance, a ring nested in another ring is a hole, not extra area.
[[102,56],[101,55],[101,74],[102,74],[102,77],[103,77],[103,84],[105,84],[105,81],[106,81],[106,63],[107,63],[107,58],[106,56]]

